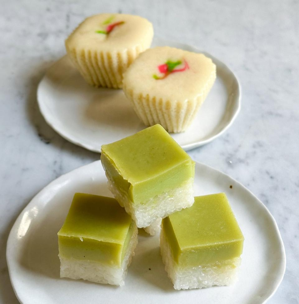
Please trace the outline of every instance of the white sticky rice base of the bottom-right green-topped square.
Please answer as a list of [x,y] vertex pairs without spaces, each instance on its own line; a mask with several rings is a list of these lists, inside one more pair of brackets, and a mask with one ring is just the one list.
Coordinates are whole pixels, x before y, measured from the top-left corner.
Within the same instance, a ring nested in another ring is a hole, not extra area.
[[163,229],[160,234],[160,249],[165,270],[173,282],[174,289],[203,288],[213,285],[223,286],[230,285],[237,280],[237,271],[241,264],[241,258],[196,267],[178,267],[173,261],[171,249],[163,235]]

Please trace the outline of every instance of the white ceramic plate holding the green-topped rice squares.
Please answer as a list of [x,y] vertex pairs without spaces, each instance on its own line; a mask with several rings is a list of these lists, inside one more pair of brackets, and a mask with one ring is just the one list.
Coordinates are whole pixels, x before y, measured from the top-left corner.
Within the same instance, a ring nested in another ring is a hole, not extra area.
[[[100,161],[71,171],[46,186],[26,206],[7,242],[12,286],[23,304],[201,303],[259,304],[277,289],[285,252],[267,208],[229,176],[196,163],[195,194],[225,192],[244,234],[239,281],[231,286],[176,291],[159,254],[159,236],[140,230],[124,287],[59,278],[57,232],[75,192],[110,196]],[[232,186],[232,188],[230,188]]]

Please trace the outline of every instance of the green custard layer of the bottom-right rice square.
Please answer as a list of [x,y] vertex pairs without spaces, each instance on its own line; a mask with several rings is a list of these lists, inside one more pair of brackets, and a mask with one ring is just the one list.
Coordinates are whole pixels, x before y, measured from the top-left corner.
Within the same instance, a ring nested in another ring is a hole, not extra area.
[[225,193],[196,196],[190,208],[163,219],[163,233],[180,267],[240,257],[244,237]]

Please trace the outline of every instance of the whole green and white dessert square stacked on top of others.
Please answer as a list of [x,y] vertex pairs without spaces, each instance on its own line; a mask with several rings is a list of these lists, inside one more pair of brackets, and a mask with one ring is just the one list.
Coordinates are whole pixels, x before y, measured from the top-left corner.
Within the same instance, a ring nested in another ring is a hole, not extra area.
[[101,162],[109,189],[139,228],[194,202],[194,162],[158,124],[103,145]]

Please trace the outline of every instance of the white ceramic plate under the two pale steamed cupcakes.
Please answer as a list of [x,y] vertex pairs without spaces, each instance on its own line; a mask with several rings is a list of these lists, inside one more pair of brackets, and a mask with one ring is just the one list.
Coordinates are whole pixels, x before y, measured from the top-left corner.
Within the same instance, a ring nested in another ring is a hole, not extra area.
[[[153,46],[173,46],[201,52],[177,42],[156,38]],[[185,150],[201,146],[220,136],[240,110],[240,84],[236,75],[210,54],[217,66],[217,78],[206,101],[186,132],[172,134]],[[57,61],[41,80],[37,90],[40,111],[62,137],[91,151],[145,128],[122,90],[93,88],[85,83],[67,56]]]

